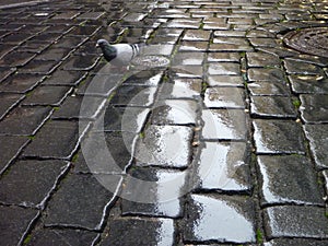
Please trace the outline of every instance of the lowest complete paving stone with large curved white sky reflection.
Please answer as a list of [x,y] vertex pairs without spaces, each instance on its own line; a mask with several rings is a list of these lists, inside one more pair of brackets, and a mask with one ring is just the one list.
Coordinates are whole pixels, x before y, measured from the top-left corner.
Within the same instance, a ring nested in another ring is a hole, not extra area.
[[[190,243],[255,242],[253,203],[238,197],[191,195],[184,227]],[[208,230],[211,229],[211,230]]]

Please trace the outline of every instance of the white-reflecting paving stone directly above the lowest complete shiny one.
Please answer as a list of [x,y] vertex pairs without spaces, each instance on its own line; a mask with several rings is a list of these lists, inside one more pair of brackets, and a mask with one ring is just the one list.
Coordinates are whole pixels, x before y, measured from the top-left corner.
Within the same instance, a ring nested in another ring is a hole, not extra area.
[[247,151],[243,142],[204,142],[194,177],[198,188],[248,191],[251,184]]

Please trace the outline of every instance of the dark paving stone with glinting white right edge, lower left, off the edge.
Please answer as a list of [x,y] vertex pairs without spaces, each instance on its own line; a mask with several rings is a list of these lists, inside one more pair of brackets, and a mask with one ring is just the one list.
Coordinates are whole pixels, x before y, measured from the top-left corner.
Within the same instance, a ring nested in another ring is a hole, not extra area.
[[102,186],[96,175],[69,175],[47,206],[45,225],[99,230],[104,212],[115,197],[110,189],[117,190],[120,180],[114,175],[104,178],[108,178],[112,187]]

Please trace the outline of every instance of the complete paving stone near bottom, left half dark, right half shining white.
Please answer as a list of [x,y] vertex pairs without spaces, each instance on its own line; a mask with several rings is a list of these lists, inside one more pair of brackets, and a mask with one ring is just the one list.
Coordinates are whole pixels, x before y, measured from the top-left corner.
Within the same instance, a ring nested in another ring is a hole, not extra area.
[[[151,215],[180,218],[183,215],[185,172],[154,168],[137,168],[131,173],[133,178],[152,181],[149,188],[144,183],[127,178],[122,194],[124,215]],[[149,190],[149,191],[148,191]],[[142,202],[144,201],[144,202]],[[145,202],[147,201],[147,202]]]

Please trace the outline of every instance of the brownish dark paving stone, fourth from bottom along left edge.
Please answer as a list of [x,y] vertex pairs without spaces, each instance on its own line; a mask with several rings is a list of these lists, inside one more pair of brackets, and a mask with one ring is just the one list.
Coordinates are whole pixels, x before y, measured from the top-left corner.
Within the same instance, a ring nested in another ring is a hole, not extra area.
[[50,107],[16,107],[0,121],[0,134],[33,136],[50,114]]

